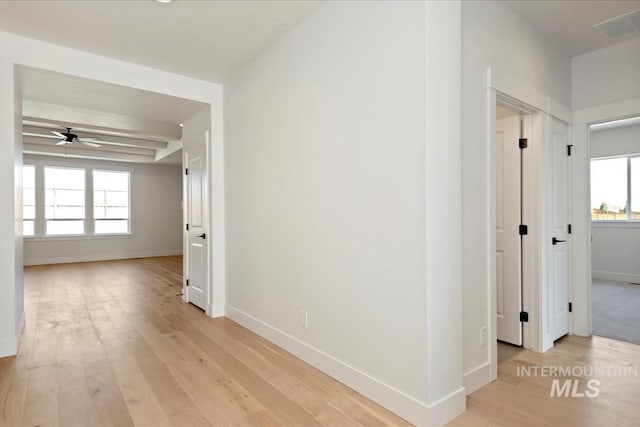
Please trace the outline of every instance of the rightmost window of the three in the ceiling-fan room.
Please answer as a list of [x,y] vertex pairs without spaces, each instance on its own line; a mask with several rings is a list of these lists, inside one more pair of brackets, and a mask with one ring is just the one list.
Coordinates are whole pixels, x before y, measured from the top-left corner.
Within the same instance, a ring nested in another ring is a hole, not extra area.
[[93,171],[96,234],[129,232],[129,173]]

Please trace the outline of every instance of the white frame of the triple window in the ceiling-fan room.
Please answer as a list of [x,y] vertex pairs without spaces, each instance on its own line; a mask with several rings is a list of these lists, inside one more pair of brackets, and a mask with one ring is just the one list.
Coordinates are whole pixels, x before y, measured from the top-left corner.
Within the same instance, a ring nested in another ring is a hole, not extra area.
[[[62,162],[56,161],[56,159],[40,159],[40,158],[27,158],[23,161],[24,166],[33,166],[36,174],[36,218],[34,220],[34,234],[32,236],[23,236],[25,240],[29,241],[52,241],[52,240],[101,240],[101,239],[121,239],[132,238],[134,233],[134,168],[127,165],[106,165],[98,162]],[[45,218],[45,178],[44,168],[66,168],[66,169],[82,169],[85,172],[85,226],[83,234],[46,234],[46,221]],[[126,172],[129,175],[129,227],[126,233],[95,233],[95,218],[93,208],[93,171],[104,172]]]

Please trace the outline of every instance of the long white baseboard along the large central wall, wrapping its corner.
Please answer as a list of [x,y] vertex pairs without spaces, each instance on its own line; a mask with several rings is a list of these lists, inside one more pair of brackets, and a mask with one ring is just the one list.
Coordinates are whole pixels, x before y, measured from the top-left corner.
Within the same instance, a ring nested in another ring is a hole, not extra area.
[[419,426],[442,425],[464,412],[466,404],[464,388],[454,391],[432,405],[427,405],[242,310],[227,305],[225,311],[227,317],[234,322],[271,341],[413,424]]

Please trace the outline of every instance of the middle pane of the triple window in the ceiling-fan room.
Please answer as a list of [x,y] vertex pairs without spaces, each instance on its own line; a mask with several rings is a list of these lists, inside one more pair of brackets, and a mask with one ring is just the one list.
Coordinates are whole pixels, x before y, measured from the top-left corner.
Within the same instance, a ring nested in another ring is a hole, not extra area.
[[[84,177],[84,169],[44,168],[46,219],[84,219]],[[82,231],[78,232],[78,224]],[[83,232],[84,221],[47,221],[47,234]]]

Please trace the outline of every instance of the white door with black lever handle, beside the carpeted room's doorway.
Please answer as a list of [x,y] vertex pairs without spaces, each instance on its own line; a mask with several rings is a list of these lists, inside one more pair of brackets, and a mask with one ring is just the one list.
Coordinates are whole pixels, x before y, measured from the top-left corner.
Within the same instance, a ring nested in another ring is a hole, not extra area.
[[569,333],[569,128],[551,124],[549,313],[552,339]]

